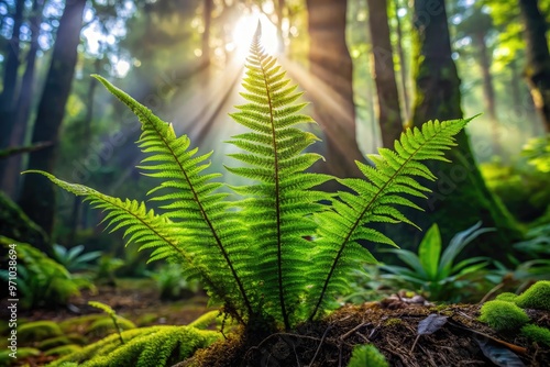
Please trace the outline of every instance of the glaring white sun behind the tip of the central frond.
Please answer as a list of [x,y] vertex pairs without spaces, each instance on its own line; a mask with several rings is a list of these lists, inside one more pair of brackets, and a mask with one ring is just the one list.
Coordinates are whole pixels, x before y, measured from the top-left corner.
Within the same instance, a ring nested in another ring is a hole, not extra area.
[[243,14],[239,19],[233,30],[231,44],[228,44],[228,47],[234,48],[242,57],[246,56],[258,20],[262,24],[262,45],[268,54],[275,55],[278,51],[277,29],[260,11]]

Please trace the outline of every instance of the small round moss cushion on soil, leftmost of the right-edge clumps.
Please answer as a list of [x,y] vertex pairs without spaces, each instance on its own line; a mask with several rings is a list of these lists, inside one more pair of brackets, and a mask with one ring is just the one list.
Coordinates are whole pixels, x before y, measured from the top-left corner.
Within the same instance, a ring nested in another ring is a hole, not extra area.
[[495,300],[483,304],[480,321],[501,332],[521,327],[529,322],[529,316],[512,302]]

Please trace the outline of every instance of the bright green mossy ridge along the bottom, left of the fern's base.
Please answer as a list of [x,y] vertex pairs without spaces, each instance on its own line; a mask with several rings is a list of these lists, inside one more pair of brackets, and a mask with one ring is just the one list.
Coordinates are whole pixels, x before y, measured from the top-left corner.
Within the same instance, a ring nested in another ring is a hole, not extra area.
[[158,367],[172,366],[220,338],[220,333],[191,326],[150,326],[110,335],[50,364],[50,367],[77,363],[88,366]]

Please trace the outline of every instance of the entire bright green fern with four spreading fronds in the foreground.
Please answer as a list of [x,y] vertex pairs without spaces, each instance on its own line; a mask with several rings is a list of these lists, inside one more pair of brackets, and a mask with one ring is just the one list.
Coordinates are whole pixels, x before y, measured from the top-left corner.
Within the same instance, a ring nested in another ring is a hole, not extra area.
[[[333,294],[345,291],[348,278],[360,263],[375,263],[359,241],[395,243],[371,223],[413,224],[398,205],[418,208],[407,197],[426,198],[418,178],[436,177],[422,163],[446,160],[468,120],[427,122],[408,129],[395,151],[369,155],[373,165],[358,162],[366,179],[337,179],[309,173],[322,157],[304,151],[318,141],[300,124],[315,123],[300,114],[306,103],[289,86],[285,71],[260,43],[251,45],[242,97],[231,118],[249,132],[229,142],[241,162],[226,167],[253,184],[229,187],[220,174],[205,174],[210,154],[198,155],[186,135],[176,136],[172,124],[155,116],[106,79],[106,88],[140,119],[139,146],[147,155],[139,166],[161,184],[148,196],[158,212],[144,202],[113,198],[82,185],[68,184],[40,173],[63,189],[85,197],[107,212],[111,231],[123,229],[128,243],[151,248],[150,260],[182,265],[189,278],[200,279],[213,301],[245,327],[290,330],[333,308]],[[337,179],[343,192],[316,188]],[[330,203],[330,204],[329,204]],[[312,240],[311,240],[312,238]]]

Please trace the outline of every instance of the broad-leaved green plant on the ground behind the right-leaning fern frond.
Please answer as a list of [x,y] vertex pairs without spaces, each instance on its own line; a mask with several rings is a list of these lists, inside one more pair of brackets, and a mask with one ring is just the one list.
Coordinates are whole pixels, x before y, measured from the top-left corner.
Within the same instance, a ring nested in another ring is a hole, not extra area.
[[461,289],[470,283],[465,278],[487,265],[483,257],[472,257],[454,264],[466,245],[481,234],[493,231],[493,229],[480,229],[481,224],[479,222],[457,233],[441,254],[441,235],[435,223],[422,238],[418,255],[407,249],[388,249],[407,267],[383,265],[382,269],[391,274],[382,277],[400,285],[408,285],[411,289],[420,288],[427,291],[432,300],[455,301],[450,298],[463,296]]

